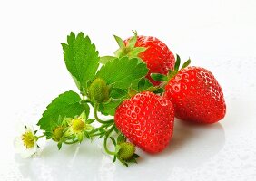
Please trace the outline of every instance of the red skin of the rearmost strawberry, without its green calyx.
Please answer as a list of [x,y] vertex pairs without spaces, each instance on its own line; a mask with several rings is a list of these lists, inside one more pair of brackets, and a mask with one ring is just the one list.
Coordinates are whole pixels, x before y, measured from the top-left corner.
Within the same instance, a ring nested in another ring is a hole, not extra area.
[[[125,44],[130,40],[124,41]],[[153,81],[151,73],[161,73],[167,75],[172,70],[175,63],[175,57],[166,44],[162,43],[152,36],[138,36],[135,47],[145,47],[147,50],[139,54],[139,57],[147,64],[149,72],[146,76],[153,85],[159,85],[160,81]]]

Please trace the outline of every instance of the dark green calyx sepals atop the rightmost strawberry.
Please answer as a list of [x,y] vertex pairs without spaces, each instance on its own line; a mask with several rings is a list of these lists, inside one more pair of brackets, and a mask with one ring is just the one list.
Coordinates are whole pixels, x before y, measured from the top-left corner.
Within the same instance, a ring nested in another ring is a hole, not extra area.
[[191,63],[191,59],[187,60],[186,62],[184,62],[182,64],[182,68],[180,69],[180,65],[181,65],[181,58],[180,56],[177,54],[177,58],[176,58],[176,62],[174,65],[174,69],[173,70],[169,70],[167,75],[162,75],[160,73],[152,73],[151,77],[154,81],[165,81],[168,82],[170,81],[179,71],[181,71],[182,69],[188,67]]

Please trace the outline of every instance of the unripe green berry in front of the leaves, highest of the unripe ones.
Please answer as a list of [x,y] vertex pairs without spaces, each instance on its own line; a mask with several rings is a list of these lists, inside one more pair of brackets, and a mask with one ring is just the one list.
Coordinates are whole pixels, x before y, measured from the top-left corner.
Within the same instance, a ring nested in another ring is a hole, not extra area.
[[88,97],[95,103],[102,103],[109,100],[110,87],[103,79],[96,78],[88,89]]

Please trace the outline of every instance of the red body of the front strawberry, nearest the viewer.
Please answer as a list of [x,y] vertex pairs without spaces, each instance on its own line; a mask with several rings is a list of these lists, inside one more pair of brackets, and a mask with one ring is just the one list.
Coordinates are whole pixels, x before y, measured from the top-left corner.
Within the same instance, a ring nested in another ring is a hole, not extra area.
[[136,94],[117,108],[114,122],[123,135],[148,153],[158,153],[172,139],[172,102],[152,92]]

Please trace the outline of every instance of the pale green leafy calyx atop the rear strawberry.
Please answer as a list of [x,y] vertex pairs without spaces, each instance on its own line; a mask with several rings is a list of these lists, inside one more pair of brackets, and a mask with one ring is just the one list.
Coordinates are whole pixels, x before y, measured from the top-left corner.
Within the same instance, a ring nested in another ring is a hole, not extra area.
[[134,36],[128,41],[128,43],[124,43],[123,40],[113,35],[115,41],[119,45],[119,49],[114,52],[114,55],[118,58],[128,56],[128,57],[138,57],[141,52],[145,52],[147,48],[145,47],[135,47],[135,44],[137,43],[137,32],[134,31]]

